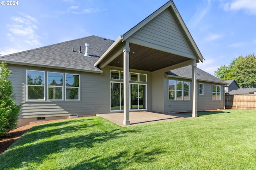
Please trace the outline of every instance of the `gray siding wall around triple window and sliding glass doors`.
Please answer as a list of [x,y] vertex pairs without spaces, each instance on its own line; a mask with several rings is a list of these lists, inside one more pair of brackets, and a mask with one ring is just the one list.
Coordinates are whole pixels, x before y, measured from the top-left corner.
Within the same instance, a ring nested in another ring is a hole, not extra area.
[[[9,64],[8,68],[12,70],[12,75],[9,79],[12,80],[14,87],[16,104],[23,103],[20,110],[19,125],[36,121],[36,117],[46,117],[45,119],[50,120],[53,117],[54,119],[60,119],[61,117],[66,118],[70,115],[90,116],[98,113],[110,113],[110,69],[122,70],[122,68],[106,66],[103,69],[103,73],[98,74],[32,66],[24,67],[14,64]],[[80,101],[26,101],[27,69],[79,74]],[[147,74],[147,110],[152,110],[151,73],[139,70],[134,70],[134,72]]]

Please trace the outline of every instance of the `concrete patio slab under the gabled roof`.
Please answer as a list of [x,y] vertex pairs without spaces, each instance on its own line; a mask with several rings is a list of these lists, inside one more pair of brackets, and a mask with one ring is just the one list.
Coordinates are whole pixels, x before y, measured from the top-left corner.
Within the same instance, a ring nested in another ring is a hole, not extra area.
[[[97,114],[96,116],[108,119],[109,121],[112,121],[117,125],[125,126],[123,125],[124,113],[105,113]],[[171,121],[188,118],[192,118],[192,116],[179,113],[157,113],[151,111],[137,111],[130,112],[130,125],[140,125],[144,123],[155,123],[161,121]]]

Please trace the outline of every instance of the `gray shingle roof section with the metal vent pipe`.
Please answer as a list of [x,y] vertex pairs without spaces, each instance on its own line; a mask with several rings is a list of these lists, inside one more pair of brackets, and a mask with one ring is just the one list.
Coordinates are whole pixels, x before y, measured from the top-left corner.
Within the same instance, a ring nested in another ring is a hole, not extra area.
[[[84,56],[85,43],[89,44],[88,52],[90,57]],[[37,49],[0,56],[0,60],[8,61],[10,64],[102,72],[102,70],[95,67],[93,64],[96,63],[112,43],[114,43],[113,40],[92,35]],[[82,53],[79,53],[80,46]],[[74,47],[73,52],[72,47]]]

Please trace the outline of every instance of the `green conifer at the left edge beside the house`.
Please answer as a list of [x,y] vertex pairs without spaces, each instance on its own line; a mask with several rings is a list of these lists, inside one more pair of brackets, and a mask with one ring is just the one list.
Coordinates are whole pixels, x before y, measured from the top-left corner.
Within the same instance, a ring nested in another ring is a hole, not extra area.
[[0,68],[0,136],[3,136],[16,128],[22,104],[17,106],[14,102],[12,83],[8,79],[11,71],[7,68],[7,62],[2,61]]

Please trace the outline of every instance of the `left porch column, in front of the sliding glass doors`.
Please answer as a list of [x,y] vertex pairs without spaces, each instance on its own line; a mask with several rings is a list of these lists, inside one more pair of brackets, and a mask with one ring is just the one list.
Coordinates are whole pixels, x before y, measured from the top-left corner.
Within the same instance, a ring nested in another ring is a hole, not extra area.
[[129,119],[129,42],[125,41],[124,53],[124,125],[130,125]]

